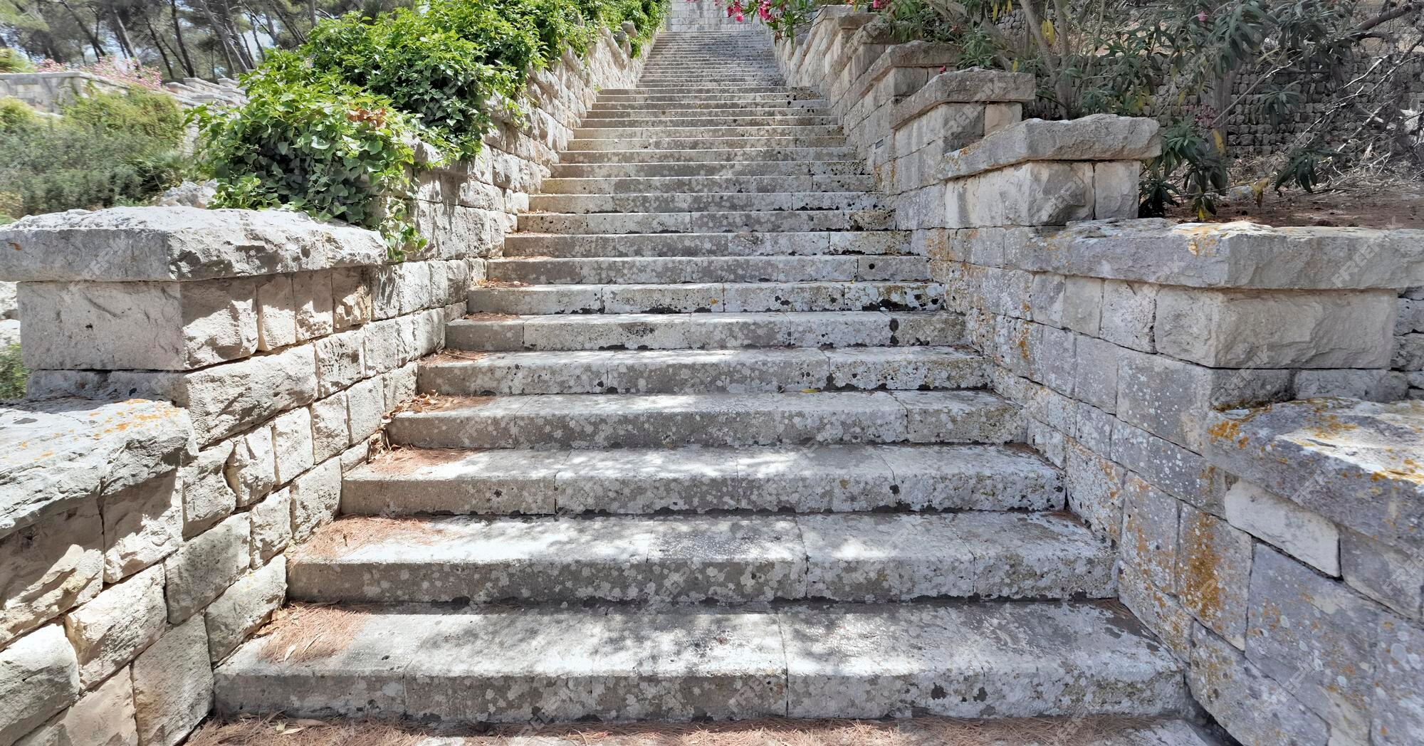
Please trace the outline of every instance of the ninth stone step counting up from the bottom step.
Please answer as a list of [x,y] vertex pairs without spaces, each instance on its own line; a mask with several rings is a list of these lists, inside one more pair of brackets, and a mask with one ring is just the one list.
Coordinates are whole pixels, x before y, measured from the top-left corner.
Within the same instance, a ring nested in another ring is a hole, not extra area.
[[[545,179],[548,184],[553,179]],[[923,249],[923,248],[918,248]],[[820,256],[914,255],[906,231],[829,231],[819,233],[510,233],[504,256]]]

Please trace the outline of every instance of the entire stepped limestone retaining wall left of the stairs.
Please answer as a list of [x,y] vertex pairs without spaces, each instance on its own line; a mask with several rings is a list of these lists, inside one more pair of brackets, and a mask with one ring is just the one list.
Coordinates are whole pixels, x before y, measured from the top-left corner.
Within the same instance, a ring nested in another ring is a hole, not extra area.
[[34,370],[0,409],[0,746],[187,737],[212,665],[283,604],[283,550],[336,514],[598,88],[639,68],[604,33],[534,73],[527,125],[420,175],[429,246],[400,263],[279,211],[0,229]]

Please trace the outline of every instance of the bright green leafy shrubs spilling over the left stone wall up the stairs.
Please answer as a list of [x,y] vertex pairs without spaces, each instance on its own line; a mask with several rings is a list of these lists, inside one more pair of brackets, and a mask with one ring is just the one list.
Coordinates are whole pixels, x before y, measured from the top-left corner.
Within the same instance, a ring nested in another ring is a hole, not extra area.
[[496,117],[518,118],[530,70],[587,54],[601,26],[632,21],[634,47],[668,0],[431,0],[424,13],[347,14],[244,78],[236,110],[199,107],[199,164],[219,206],[289,206],[379,229],[393,255],[423,140],[478,152]]

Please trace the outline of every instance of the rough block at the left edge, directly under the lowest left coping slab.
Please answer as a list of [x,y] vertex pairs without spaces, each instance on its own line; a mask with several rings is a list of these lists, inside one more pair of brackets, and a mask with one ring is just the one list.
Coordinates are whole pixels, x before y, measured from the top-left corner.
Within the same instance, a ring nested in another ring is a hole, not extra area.
[[98,594],[98,505],[78,505],[0,538],[0,646]]

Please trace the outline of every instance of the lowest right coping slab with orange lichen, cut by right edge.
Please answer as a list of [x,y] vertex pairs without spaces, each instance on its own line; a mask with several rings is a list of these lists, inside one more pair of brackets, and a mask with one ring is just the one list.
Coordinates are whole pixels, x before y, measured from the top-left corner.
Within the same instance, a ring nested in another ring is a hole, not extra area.
[[1307,399],[1208,423],[1206,456],[1218,467],[1424,555],[1424,401]]

